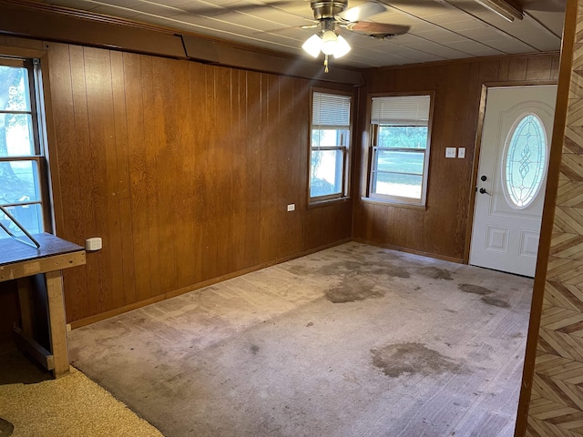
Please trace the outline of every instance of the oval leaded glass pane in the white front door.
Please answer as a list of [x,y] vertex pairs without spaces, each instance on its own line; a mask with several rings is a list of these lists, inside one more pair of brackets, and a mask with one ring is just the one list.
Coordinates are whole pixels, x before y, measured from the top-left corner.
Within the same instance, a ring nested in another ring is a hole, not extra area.
[[547,164],[547,133],[534,114],[522,117],[508,136],[506,198],[516,208],[527,208],[537,197]]

